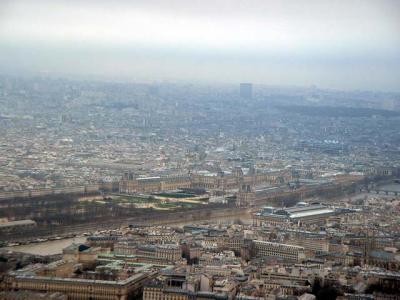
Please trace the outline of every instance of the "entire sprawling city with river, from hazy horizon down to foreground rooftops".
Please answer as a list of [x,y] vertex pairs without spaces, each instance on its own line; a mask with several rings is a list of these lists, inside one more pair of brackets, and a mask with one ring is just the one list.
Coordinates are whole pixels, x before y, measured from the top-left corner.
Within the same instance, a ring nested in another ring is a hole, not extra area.
[[0,299],[400,299],[399,128],[398,93],[2,76]]

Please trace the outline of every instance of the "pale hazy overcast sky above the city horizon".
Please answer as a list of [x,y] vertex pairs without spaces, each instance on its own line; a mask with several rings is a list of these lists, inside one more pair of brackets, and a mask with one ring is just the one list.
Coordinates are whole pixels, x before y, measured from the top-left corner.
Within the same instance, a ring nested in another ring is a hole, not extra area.
[[0,72],[400,90],[400,1],[1,0]]

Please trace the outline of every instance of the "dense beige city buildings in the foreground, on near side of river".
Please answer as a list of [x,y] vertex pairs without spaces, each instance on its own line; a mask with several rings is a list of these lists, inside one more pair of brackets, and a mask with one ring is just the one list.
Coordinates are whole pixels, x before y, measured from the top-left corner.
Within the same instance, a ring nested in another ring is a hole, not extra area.
[[[191,223],[105,230],[86,244],[64,248],[61,260],[36,258],[22,269],[12,267],[0,282],[0,298],[33,293],[46,299],[315,299],[317,282],[321,289],[351,292],[340,299],[397,299],[398,227],[381,226],[379,235],[370,230],[376,231],[376,221],[382,224],[387,209],[381,200],[357,210],[306,202],[264,207],[263,215],[287,221],[262,227]],[[322,220],[324,226],[316,226]],[[4,254],[11,258],[10,251]]]

